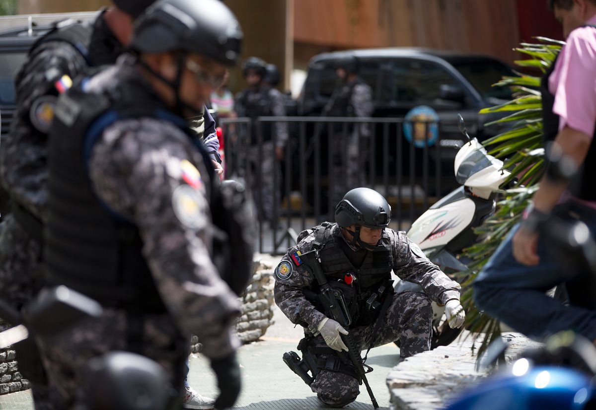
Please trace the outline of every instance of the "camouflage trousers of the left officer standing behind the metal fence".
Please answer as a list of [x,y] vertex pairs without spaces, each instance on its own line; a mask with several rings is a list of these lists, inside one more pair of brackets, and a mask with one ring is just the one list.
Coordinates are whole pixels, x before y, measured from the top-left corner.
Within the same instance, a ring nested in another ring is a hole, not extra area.
[[251,168],[250,188],[259,220],[277,223],[280,204],[281,166],[275,157],[273,141],[247,150]]

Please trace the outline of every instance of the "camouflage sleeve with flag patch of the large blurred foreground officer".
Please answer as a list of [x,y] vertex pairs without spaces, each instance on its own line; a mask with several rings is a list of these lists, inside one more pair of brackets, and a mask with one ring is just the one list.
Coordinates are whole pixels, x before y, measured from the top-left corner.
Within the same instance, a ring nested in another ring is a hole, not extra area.
[[220,358],[238,346],[231,328],[240,303],[210,257],[205,170],[188,137],[156,119],[114,123],[89,160],[98,197],[138,226],[170,314],[199,337],[207,357]]

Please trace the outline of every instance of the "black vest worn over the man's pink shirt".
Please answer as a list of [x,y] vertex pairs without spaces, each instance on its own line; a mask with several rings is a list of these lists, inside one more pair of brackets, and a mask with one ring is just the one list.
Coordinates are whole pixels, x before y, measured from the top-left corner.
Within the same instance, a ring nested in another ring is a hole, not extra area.
[[[588,25],[589,26],[589,25]],[[596,29],[596,26],[590,26]],[[545,145],[554,141],[559,132],[559,116],[552,111],[555,103],[555,96],[548,89],[548,80],[554,72],[555,63],[553,61],[550,69],[544,74],[541,82],[542,94],[542,120],[543,120],[543,141]],[[596,138],[596,130],[594,132]],[[594,190],[594,177],[596,175],[596,144],[594,138],[590,144],[588,155],[583,161],[583,166],[570,182],[570,191],[576,197],[586,201],[596,201],[596,190]]]

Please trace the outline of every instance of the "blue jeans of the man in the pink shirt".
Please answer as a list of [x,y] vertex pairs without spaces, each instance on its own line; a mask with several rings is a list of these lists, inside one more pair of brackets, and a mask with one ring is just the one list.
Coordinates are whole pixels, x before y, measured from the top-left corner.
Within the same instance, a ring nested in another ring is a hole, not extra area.
[[[566,203],[555,207],[554,213],[569,214],[569,210],[579,215],[591,234],[596,235],[596,211]],[[573,330],[595,340],[596,311],[564,306],[545,294],[580,272],[556,263],[542,238],[538,241],[538,265],[517,262],[512,253],[512,238],[517,229],[519,225],[511,230],[474,281],[476,306],[528,337],[542,339],[561,330]]]

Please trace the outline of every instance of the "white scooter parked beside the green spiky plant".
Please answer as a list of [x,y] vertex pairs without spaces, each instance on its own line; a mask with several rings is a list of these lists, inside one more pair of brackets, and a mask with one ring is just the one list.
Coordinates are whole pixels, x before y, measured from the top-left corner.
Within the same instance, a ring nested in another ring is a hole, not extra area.
[[[483,239],[474,233],[474,228],[495,212],[499,187],[510,175],[502,169],[501,160],[486,153],[476,138],[470,138],[464,119],[459,117],[460,130],[469,141],[455,156],[455,178],[462,187],[430,207],[412,223],[407,234],[448,275],[468,270],[470,261],[461,252]],[[422,291],[422,288],[397,278],[395,292],[405,291]],[[445,306],[433,302],[431,349],[448,345],[463,329],[450,328],[444,313]],[[399,345],[399,341],[396,344]]]

